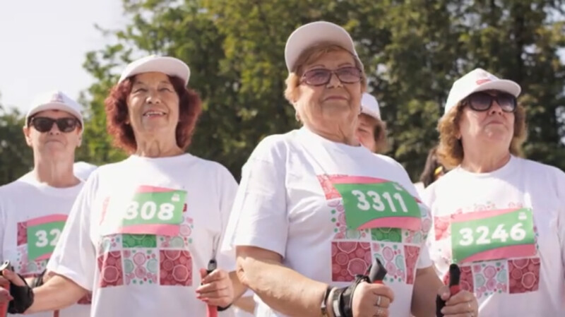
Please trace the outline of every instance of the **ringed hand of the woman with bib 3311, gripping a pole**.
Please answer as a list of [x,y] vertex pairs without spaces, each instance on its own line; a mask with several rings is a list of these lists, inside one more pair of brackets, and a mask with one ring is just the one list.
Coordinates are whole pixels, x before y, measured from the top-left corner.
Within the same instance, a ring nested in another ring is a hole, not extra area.
[[390,287],[361,282],[353,292],[353,317],[388,317],[388,306],[393,300],[394,294]]

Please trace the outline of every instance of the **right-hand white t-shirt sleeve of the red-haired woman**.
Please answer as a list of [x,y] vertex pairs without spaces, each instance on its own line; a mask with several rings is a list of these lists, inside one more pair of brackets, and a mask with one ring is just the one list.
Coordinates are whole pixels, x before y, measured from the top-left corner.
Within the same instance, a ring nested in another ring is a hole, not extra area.
[[[222,246],[225,240],[225,232],[227,222],[230,220],[235,195],[237,193],[237,181],[232,174],[225,168],[221,167],[218,172],[218,187],[220,188],[220,220],[222,223],[221,234],[218,247]],[[218,266],[224,270],[235,270],[235,252],[218,252]]]

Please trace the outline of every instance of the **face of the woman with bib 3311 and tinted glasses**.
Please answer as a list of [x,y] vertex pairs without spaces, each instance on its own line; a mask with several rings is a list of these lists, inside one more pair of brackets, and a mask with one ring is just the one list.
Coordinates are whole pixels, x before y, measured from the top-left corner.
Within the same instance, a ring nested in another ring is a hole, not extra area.
[[[347,67],[357,67],[352,54],[345,50],[337,50],[327,52],[319,59],[304,65],[302,74],[316,69],[337,71]],[[329,82],[325,85],[300,84],[295,107],[304,124],[313,127],[314,130],[339,134],[341,131],[331,130],[346,129],[354,133],[360,112],[361,94],[360,81],[343,83],[335,73],[332,73]],[[344,123],[348,126],[343,126]]]

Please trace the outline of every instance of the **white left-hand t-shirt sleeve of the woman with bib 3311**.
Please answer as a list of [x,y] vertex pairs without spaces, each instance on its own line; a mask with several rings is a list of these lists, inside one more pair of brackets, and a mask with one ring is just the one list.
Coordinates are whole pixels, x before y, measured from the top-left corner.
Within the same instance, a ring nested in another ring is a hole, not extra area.
[[256,246],[285,256],[288,217],[284,143],[265,138],[242,169],[223,251]]

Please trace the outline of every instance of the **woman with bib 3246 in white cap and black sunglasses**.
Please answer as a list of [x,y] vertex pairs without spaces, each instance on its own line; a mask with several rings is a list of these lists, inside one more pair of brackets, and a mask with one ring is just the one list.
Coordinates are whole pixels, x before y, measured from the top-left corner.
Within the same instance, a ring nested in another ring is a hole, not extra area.
[[455,167],[429,186],[429,244],[441,277],[459,263],[480,316],[565,316],[565,174],[517,155],[517,83],[475,69],[453,83],[438,157]]

